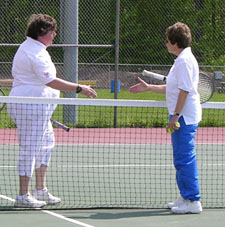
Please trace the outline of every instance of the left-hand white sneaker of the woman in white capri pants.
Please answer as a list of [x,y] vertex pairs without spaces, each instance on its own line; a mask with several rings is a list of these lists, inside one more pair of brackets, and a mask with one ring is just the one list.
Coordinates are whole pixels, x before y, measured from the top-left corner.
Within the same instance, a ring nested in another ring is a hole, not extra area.
[[32,197],[29,193],[22,196],[17,196],[14,203],[15,207],[25,207],[25,208],[41,208],[46,205],[44,201],[38,201]]

